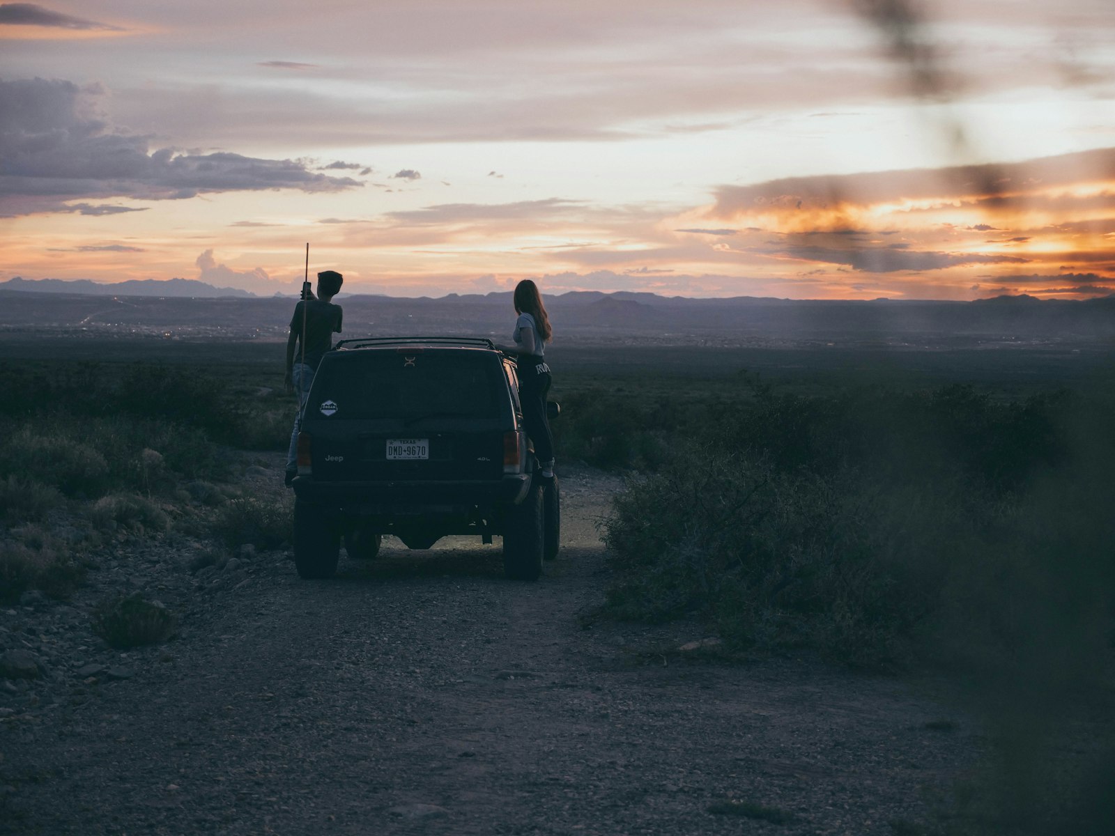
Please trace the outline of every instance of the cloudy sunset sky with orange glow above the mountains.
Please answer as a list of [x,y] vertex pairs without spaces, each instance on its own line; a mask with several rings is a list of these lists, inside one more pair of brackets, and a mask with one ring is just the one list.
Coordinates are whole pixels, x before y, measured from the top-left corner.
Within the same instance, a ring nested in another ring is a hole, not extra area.
[[1115,2],[0,3],[0,281],[291,293],[306,242],[391,295],[1115,292]]

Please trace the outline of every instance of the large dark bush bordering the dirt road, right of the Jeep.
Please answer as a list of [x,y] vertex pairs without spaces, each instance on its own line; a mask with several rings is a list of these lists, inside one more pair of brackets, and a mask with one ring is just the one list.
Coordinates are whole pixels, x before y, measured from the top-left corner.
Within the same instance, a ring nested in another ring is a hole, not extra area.
[[696,613],[737,647],[812,647],[884,665],[925,603],[896,590],[869,509],[807,472],[708,447],[681,448],[615,499],[604,539],[620,618]]

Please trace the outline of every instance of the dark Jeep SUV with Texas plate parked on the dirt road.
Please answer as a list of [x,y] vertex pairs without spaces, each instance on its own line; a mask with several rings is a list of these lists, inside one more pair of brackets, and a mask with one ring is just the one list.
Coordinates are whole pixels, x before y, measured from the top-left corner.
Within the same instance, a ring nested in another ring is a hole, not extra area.
[[342,537],[370,558],[385,534],[408,548],[501,535],[505,574],[530,581],[558,554],[558,479],[541,476],[515,362],[491,340],[339,342],[313,378],[293,485],[302,577],[331,576]]

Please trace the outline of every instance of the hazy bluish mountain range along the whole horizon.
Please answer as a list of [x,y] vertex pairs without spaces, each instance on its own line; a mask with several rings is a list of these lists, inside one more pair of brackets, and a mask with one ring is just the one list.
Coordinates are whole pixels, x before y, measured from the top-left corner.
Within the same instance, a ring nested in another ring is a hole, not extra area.
[[[119,284],[12,279],[0,283],[0,327],[7,329],[95,329],[187,339],[282,337],[294,309],[292,297],[256,297],[185,279]],[[338,302],[345,309],[343,337],[471,333],[508,339],[514,322],[510,291],[439,299],[352,294]],[[574,291],[547,294],[545,302],[558,339],[633,338],[671,344],[853,340],[911,348],[953,338],[972,344],[1115,340],[1115,294],[1084,301],[1020,295],[950,302]]]

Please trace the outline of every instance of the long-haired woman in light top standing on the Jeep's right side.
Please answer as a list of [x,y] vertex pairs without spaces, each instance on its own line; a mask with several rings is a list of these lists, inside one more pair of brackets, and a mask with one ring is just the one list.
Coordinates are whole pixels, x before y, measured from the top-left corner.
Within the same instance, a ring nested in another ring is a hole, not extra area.
[[546,419],[546,395],[550,392],[550,367],[546,366],[546,343],[553,336],[550,318],[542,304],[542,295],[530,279],[515,285],[514,346],[500,346],[516,354],[518,366],[518,398],[523,406],[523,426],[534,441],[534,455],[542,466],[542,478],[554,475],[554,439]]

